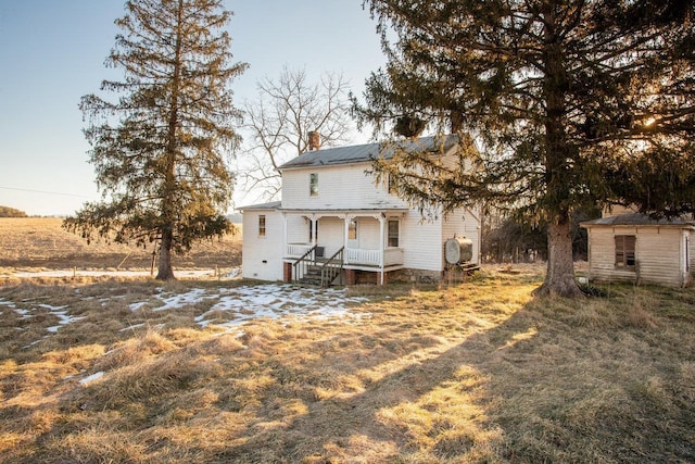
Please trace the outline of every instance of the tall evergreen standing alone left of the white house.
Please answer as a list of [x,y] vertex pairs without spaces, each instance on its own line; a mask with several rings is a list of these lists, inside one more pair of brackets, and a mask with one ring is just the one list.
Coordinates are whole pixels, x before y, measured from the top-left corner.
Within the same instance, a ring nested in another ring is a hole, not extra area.
[[106,65],[124,80],[104,80],[115,101],[83,97],[102,201],[86,203],[64,226],[117,242],[159,241],[157,279],[172,279],[172,252],[188,251],[230,225],[222,214],[233,175],[223,153],[239,142],[223,0],[134,0],[116,20],[123,34]]

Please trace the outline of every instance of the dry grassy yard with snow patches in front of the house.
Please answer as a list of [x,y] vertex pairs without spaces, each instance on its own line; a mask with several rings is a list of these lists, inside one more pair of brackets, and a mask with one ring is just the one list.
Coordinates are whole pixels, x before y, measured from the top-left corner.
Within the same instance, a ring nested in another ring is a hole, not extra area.
[[695,291],[540,280],[355,287],[346,313],[244,325],[256,306],[213,297],[242,283],[5,285],[0,462],[694,462]]

